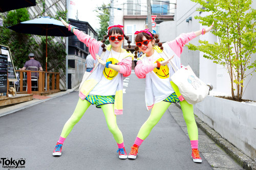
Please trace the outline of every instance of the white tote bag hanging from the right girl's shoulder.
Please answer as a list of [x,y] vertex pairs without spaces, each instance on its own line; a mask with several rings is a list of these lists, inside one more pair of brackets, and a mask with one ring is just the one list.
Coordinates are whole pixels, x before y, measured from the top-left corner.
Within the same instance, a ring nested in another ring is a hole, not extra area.
[[170,64],[175,71],[170,79],[178,86],[187,103],[194,105],[203,101],[208,95],[209,87],[195,75],[189,65],[178,69],[172,60]]

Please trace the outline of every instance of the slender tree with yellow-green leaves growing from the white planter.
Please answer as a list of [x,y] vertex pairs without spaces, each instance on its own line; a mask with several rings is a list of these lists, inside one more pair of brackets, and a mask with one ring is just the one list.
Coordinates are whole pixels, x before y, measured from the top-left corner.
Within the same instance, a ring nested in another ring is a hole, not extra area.
[[[204,8],[198,11],[208,12],[207,16],[196,16],[203,26],[215,21],[211,32],[218,42],[210,44],[199,40],[200,45],[189,43],[189,50],[204,52],[204,57],[223,65],[231,81],[231,93],[234,100],[240,101],[244,92],[244,80],[256,70],[256,61],[251,55],[256,52],[255,14],[251,9],[251,0],[191,0]],[[250,69],[250,70],[249,70]],[[237,90],[237,91],[235,91]]]

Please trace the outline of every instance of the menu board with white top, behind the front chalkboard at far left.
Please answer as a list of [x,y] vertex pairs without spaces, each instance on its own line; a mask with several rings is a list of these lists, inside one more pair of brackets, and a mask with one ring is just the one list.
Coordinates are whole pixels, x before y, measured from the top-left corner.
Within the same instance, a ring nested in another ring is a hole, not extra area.
[[17,81],[9,47],[5,45],[0,45],[0,54],[8,56],[8,81]]

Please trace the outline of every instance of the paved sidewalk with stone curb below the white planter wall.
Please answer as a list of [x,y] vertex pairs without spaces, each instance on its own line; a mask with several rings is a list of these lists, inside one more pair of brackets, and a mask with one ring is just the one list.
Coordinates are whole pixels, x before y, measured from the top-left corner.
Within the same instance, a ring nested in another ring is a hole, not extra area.
[[[172,105],[168,110],[176,120],[177,124],[180,125],[184,133],[188,136],[181,107],[179,104],[175,104],[179,110],[174,110],[175,107],[172,107]],[[234,145],[229,143],[226,139],[222,138],[221,135],[202,122],[196,115],[195,119],[197,126],[199,127],[199,151],[214,169],[240,169],[237,166],[234,166],[234,161],[236,161],[236,163],[243,169],[256,170],[256,162],[243,154],[242,151],[234,147]],[[233,160],[230,160],[230,158]]]

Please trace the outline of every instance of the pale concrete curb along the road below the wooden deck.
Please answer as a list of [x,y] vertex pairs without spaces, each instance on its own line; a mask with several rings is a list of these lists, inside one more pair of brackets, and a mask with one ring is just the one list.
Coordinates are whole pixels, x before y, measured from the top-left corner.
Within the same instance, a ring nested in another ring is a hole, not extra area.
[[[34,103],[32,103],[32,104],[29,103],[30,101],[28,102],[29,104],[26,104],[26,102],[24,102],[24,103],[23,103],[24,106],[19,107],[19,108],[17,108],[17,109],[12,109],[13,106],[10,106],[10,107],[8,107],[8,109],[10,109],[10,110],[9,110],[9,111],[6,111],[6,112],[3,112],[3,113],[0,113],[0,117],[5,116],[5,115],[8,115],[8,114],[15,113],[15,112],[17,112],[17,111],[20,111],[20,110],[26,109],[26,108],[28,108],[28,107],[31,107],[31,106],[40,104],[40,103],[42,103],[42,102],[46,102],[46,101],[52,100],[52,99],[54,99],[54,98],[58,98],[59,96],[68,94],[68,93],[70,93],[70,92],[76,90],[78,87],[79,87],[79,85],[77,85],[77,86],[75,86],[74,88],[69,89],[69,90],[67,90],[67,91],[61,91],[61,92],[57,92],[57,93],[55,93],[55,94],[51,94],[51,95],[49,95],[50,98],[44,99],[44,100],[38,100],[38,102],[34,102]],[[33,101],[33,100],[32,100],[32,101]]]

